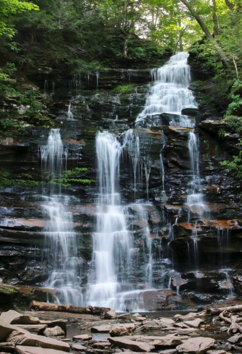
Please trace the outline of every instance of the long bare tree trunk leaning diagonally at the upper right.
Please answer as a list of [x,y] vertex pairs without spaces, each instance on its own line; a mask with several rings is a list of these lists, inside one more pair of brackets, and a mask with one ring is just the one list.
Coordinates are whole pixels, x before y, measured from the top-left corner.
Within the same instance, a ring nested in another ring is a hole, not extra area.
[[193,9],[192,5],[190,3],[188,3],[188,1],[186,1],[186,0],[180,0],[180,1],[189,10],[190,14],[196,19],[196,21],[198,22],[198,24],[202,28],[203,32],[206,34],[207,38],[211,41],[211,43],[213,43],[214,48],[215,48],[217,54],[219,55],[225,69],[229,70],[229,63],[228,63],[228,59],[227,59],[226,54],[224,53],[222,48],[219,46],[216,39],[210,33],[210,31],[209,31],[208,27],[206,26],[205,22],[203,21],[203,19],[196,13],[196,11]]

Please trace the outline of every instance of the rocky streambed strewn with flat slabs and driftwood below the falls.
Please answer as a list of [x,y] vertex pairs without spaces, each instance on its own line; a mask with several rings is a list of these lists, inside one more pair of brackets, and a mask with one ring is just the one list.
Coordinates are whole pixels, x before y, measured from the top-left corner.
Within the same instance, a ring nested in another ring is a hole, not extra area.
[[241,353],[242,305],[221,305],[165,316],[33,301],[30,307],[40,311],[1,313],[0,350],[19,354]]

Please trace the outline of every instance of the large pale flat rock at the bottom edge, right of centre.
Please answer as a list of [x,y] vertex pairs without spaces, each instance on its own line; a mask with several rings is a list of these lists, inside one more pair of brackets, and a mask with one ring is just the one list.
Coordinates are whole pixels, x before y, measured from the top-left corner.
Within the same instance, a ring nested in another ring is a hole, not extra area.
[[176,347],[177,353],[203,354],[213,347],[215,340],[207,337],[189,338]]

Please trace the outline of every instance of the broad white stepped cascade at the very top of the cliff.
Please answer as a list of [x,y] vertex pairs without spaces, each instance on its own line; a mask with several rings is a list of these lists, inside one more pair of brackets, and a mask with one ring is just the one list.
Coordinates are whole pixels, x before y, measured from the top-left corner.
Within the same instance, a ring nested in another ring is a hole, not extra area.
[[156,81],[147,98],[146,106],[136,118],[136,124],[147,116],[168,113],[176,115],[171,116],[170,125],[185,127],[195,125],[193,120],[181,114],[184,108],[197,108],[195,97],[188,89],[191,83],[190,67],[187,65],[188,56],[189,54],[185,52],[177,53],[167,64],[157,70]]

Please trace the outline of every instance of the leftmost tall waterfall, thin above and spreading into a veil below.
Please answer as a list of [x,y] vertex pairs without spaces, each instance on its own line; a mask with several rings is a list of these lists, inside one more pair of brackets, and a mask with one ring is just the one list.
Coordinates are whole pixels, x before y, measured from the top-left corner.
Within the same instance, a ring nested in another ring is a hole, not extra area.
[[40,152],[43,171],[48,173],[51,183],[50,196],[42,195],[42,208],[48,220],[45,243],[49,250],[47,261],[50,269],[44,287],[54,290],[58,303],[80,305],[83,301],[80,287],[82,259],[78,254],[72,213],[68,208],[70,197],[61,193],[58,183],[63,159],[67,157],[60,129],[51,129],[47,145],[41,146]]

